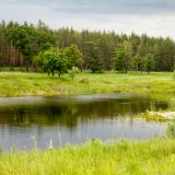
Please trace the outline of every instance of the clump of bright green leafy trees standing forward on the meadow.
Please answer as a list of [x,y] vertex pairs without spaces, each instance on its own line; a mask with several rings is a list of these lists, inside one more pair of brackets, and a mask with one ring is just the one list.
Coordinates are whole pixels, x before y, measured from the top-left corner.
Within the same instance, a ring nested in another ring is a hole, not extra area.
[[71,45],[65,49],[48,48],[40,51],[34,59],[34,65],[43,67],[48,73],[51,71],[52,75],[55,70],[58,71],[59,77],[69,69],[80,66],[82,62],[82,55],[75,45]]

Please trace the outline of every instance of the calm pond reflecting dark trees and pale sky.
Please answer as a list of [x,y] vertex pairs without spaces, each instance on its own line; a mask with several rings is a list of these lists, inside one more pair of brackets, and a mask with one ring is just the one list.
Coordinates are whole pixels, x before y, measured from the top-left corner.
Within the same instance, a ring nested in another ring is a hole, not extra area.
[[133,94],[69,97],[1,97],[0,145],[40,149],[79,144],[92,138],[150,139],[164,135],[166,124],[136,119],[148,109],[166,109],[166,102]]

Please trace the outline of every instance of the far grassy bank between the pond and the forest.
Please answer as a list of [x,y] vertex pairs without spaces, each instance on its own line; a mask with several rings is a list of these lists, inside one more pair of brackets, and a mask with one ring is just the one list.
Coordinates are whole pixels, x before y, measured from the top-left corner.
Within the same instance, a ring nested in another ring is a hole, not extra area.
[[173,73],[80,73],[48,77],[45,73],[0,72],[0,96],[48,96],[101,93],[143,93],[175,98]]

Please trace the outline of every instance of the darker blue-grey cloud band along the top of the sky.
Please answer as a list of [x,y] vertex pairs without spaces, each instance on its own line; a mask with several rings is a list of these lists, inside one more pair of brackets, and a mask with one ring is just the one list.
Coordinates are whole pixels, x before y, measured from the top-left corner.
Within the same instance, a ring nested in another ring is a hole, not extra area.
[[174,0],[1,0],[18,5],[47,7],[72,14],[162,14],[175,10]]

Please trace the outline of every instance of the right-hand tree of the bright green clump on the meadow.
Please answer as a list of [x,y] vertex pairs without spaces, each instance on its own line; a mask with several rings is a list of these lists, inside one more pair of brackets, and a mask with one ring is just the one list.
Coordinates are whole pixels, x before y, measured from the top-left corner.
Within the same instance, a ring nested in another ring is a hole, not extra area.
[[81,67],[83,56],[77,45],[70,45],[70,47],[67,47],[65,49],[65,55],[68,58],[68,69],[72,69],[72,67]]

